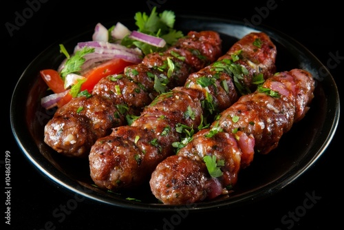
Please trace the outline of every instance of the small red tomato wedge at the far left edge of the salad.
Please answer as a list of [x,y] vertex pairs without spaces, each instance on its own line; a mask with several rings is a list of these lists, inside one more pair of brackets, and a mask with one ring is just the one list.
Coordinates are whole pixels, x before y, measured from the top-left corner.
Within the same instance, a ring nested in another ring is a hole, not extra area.
[[64,82],[60,76],[60,74],[56,70],[41,70],[39,72],[41,74],[42,79],[45,81],[50,90],[55,94],[65,92]]

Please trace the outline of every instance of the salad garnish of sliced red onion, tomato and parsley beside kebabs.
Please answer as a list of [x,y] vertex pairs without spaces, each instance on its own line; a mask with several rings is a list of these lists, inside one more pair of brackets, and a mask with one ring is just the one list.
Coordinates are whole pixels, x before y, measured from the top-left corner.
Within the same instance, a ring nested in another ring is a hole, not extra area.
[[80,92],[87,90],[92,94],[94,85],[103,77],[122,73],[128,65],[140,63],[152,52],[166,50],[184,36],[182,31],[173,29],[175,14],[170,10],[158,13],[155,7],[149,15],[136,12],[134,19],[136,30],[129,30],[120,22],[109,29],[97,23],[92,41],[77,43],[72,54],[60,44],[65,60],[57,70],[40,72],[54,92],[42,98],[41,105],[45,109],[61,107]]

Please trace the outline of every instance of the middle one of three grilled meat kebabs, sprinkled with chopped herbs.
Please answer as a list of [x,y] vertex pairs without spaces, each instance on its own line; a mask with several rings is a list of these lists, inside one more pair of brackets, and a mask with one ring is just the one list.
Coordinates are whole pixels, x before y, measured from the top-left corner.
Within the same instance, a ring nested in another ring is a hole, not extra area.
[[[252,45],[257,41],[258,46]],[[255,76],[264,78],[275,72],[276,54],[264,33],[237,41],[215,63],[190,74],[184,87],[160,94],[131,125],[116,127],[109,136],[99,138],[89,154],[92,180],[111,190],[148,182],[158,163],[175,153],[173,143],[179,143],[185,132],[197,131],[204,119],[237,101],[240,91],[235,81],[247,90],[254,87]],[[265,58],[259,61],[257,56]]]

